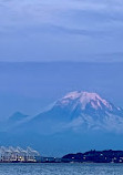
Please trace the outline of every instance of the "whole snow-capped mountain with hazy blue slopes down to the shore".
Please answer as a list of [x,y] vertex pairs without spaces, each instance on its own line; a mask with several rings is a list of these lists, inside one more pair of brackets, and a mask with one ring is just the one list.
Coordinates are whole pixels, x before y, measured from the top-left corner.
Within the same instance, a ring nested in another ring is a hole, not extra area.
[[123,146],[123,110],[96,93],[70,92],[48,111],[23,119],[20,113],[9,119],[1,144],[30,145],[47,155]]

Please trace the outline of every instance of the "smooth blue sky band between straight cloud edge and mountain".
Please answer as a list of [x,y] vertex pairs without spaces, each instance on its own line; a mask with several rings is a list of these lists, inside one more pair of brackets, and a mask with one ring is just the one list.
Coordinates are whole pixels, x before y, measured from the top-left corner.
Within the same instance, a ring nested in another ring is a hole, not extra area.
[[71,91],[96,92],[123,107],[123,63],[0,63],[0,120],[37,115]]

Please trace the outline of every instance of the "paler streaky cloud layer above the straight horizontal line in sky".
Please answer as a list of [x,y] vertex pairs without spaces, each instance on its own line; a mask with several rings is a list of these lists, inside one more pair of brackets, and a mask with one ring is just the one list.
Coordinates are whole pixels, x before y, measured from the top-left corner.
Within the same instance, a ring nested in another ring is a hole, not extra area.
[[123,61],[122,0],[0,0],[0,61]]

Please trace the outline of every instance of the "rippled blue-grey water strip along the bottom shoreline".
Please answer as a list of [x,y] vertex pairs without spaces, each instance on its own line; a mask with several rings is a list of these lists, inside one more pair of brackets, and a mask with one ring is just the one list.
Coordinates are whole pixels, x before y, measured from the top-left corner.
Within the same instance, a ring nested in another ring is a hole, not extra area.
[[0,175],[123,175],[123,164],[0,164]]

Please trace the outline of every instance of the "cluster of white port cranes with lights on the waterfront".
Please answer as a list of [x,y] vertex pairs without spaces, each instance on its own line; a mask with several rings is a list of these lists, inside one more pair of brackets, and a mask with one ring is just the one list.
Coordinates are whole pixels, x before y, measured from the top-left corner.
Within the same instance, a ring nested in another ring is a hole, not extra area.
[[27,147],[0,146],[0,162],[37,162],[38,151]]

